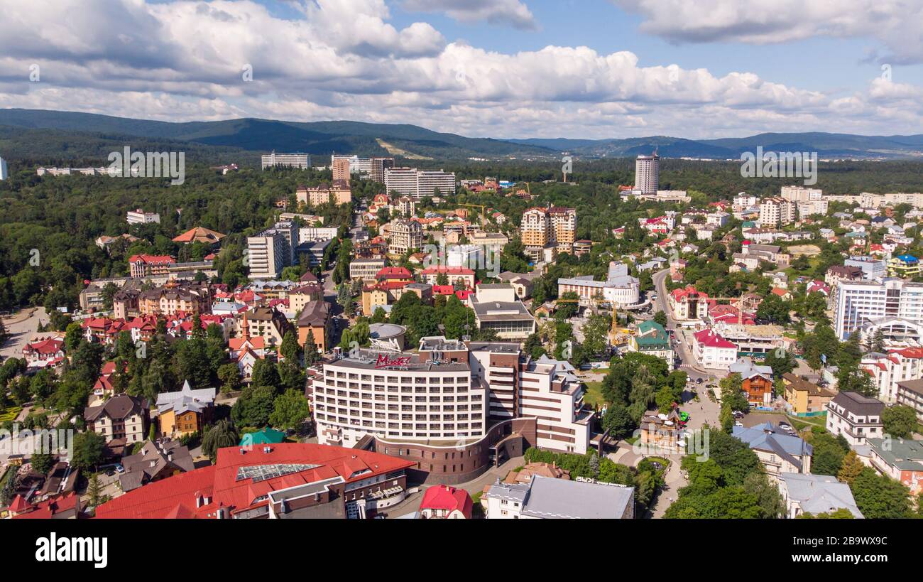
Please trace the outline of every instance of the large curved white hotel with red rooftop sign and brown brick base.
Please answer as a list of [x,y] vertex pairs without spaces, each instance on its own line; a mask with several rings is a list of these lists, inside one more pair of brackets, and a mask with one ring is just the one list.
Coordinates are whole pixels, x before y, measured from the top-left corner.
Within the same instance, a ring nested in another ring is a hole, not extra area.
[[444,337],[423,338],[417,352],[336,353],[307,385],[319,443],[401,456],[447,483],[527,446],[585,453],[593,412],[583,393],[567,362]]

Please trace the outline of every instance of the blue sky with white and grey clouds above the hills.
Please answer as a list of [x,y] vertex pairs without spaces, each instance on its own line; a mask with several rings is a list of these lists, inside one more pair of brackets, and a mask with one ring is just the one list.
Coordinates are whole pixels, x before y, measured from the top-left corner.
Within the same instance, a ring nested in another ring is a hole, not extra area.
[[923,133],[923,0],[0,0],[0,107],[470,137]]

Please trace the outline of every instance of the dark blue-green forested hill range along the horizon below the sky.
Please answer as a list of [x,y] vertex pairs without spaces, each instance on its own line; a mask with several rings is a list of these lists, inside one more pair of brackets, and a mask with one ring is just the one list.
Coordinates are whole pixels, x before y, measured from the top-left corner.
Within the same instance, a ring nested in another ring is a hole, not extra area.
[[[258,152],[307,152],[315,155],[357,153],[399,154],[426,160],[551,160],[565,152],[587,158],[634,157],[657,152],[665,158],[739,159],[741,152],[762,146],[767,152],[818,152],[821,158],[919,158],[923,135],[859,136],[840,133],[761,133],[748,138],[684,139],[652,136],[629,139],[487,139],[439,133],[413,125],[358,121],[292,122],[270,119],[230,119],[171,123],[66,111],[0,109],[0,155],[16,157],[48,143],[49,155],[94,156],[112,144],[168,142],[189,144],[190,152],[222,157],[239,152],[246,160]],[[27,129],[25,143],[18,129]],[[195,147],[193,147],[195,146]],[[138,146],[139,147],[139,146]]]

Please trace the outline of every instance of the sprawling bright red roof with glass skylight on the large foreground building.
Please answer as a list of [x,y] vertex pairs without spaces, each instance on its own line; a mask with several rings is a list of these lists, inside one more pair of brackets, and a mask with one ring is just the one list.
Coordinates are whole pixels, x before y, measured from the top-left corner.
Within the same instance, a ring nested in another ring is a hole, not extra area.
[[[414,466],[411,461],[389,455],[324,444],[280,443],[269,446],[267,450],[262,446],[252,447],[246,453],[242,453],[240,447],[219,449],[215,465],[180,473],[128,491],[97,507],[96,516],[163,518],[174,515],[205,518],[209,514],[213,516],[219,507],[238,512],[263,505],[267,502],[255,500],[270,491],[338,476],[349,483]],[[237,479],[240,467],[284,464],[318,467],[257,482],[253,479]],[[198,495],[210,497],[211,503],[197,508]]]

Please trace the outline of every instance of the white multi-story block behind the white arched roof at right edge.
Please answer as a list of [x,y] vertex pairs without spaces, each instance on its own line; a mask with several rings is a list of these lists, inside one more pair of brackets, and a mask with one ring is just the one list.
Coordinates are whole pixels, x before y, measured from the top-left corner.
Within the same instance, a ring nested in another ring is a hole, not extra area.
[[840,281],[837,287],[833,331],[841,340],[869,321],[899,318],[923,323],[923,284],[884,278]]

